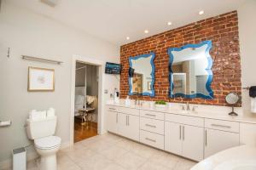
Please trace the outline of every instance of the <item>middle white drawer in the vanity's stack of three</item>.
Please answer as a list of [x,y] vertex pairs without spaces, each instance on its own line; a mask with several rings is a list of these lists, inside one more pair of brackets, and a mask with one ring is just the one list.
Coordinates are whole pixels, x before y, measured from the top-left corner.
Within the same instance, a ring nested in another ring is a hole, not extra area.
[[148,119],[145,117],[140,118],[140,128],[151,133],[165,133],[165,122],[155,119]]

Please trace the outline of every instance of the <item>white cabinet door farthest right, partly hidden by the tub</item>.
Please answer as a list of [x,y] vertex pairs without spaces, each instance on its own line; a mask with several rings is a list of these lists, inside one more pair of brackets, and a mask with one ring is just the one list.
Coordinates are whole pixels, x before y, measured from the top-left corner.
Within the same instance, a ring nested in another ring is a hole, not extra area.
[[205,158],[237,145],[239,145],[239,133],[205,130]]

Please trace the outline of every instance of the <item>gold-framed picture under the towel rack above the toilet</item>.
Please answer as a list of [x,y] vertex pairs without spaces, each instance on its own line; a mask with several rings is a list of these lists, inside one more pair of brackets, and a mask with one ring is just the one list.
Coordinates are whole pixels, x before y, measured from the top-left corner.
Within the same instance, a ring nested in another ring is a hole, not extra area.
[[55,70],[38,67],[28,67],[27,91],[53,92],[55,91]]

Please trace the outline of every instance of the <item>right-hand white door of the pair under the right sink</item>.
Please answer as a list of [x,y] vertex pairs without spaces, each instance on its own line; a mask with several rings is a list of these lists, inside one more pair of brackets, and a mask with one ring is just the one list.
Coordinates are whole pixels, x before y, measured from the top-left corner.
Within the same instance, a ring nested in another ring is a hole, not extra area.
[[183,156],[195,161],[204,157],[204,128],[183,125]]

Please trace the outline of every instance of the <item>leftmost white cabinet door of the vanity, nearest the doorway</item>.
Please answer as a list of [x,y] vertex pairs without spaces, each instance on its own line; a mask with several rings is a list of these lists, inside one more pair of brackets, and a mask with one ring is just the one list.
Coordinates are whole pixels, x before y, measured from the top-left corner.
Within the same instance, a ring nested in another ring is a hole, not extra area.
[[108,131],[111,133],[118,133],[118,113],[115,111],[108,111],[107,113]]

